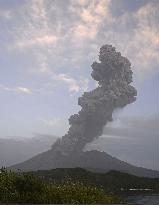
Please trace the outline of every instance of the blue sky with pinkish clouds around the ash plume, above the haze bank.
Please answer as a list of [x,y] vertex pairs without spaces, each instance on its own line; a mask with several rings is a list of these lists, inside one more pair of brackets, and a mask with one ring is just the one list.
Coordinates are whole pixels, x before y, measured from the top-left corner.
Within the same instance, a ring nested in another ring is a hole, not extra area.
[[138,90],[114,114],[112,150],[119,138],[134,150],[138,139],[143,150],[158,142],[158,0],[0,0],[0,28],[0,137],[63,135],[77,98],[96,86],[90,66],[99,48],[112,44],[131,61]]

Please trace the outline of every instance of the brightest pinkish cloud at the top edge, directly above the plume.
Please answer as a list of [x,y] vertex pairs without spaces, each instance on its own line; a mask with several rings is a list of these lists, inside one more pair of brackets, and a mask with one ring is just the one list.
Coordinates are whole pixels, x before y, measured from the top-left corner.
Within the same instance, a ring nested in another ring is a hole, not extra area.
[[101,24],[112,21],[109,12],[110,0],[94,1],[72,1],[70,9],[79,17],[79,22],[73,29],[73,39],[88,40],[95,39],[100,31]]

